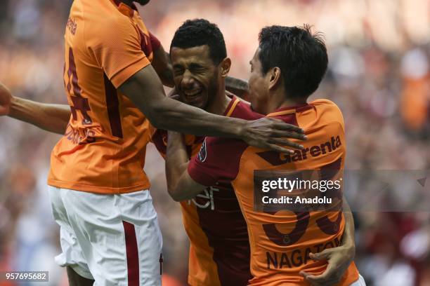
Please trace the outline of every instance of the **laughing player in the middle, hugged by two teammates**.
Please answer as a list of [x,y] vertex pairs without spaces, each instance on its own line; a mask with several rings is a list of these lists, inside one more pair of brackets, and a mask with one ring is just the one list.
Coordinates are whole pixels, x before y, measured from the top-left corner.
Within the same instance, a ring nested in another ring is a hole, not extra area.
[[[247,104],[244,105],[234,97],[227,97],[224,92],[224,79],[230,68],[230,60],[226,57],[223,36],[216,25],[206,20],[185,22],[174,35],[171,52],[176,89],[180,91],[183,102],[226,116],[236,116],[237,112],[249,109]],[[207,93],[193,96],[193,89],[200,86],[207,87]],[[22,102],[22,99],[14,97],[13,101]],[[46,130],[60,133],[64,130],[67,114],[70,116],[67,108],[25,102],[26,112],[20,118]],[[20,105],[23,104],[13,104],[12,114],[15,114],[16,107]],[[66,114],[61,118],[63,113]],[[261,117],[254,113],[249,115],[250,119]],[[38,118],[45,120],[40,121]],[[63,125],[59,124],[61,121]],[[157,130],[152,135],[152,141],[163,156],[166,151],[166,135],[164,130]],[[189,153],[197,154],[203,138],[191,135],[186,135],[185,138]],[[218,184],[204,190],[193,200],[182,201],[181,210],[185,230],[190,238],[189,284],[246,285],[250,278],[248,234],[245,219],[230,184]],[[346,268],[353,252],[351,217],[347,217],[346,224],[351,227],[345,231],[342,246],[335,247],[330,252],[334,268]],[[339,273],[344,272],[336,269]],[[339,274],[332,271],[325,276],[332,278],[335,275]]]

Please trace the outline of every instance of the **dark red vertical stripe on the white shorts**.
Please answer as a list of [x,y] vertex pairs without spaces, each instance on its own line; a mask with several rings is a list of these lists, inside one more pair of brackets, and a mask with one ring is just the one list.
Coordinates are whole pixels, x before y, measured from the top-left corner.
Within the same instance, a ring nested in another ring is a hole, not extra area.
[[139,254],[137,247],[137,238],[134,225],[129,222],[122,221],[124,225],[125,238],[126,238],[126,252],[127,252],[127,272],[129,286],[139,285]]

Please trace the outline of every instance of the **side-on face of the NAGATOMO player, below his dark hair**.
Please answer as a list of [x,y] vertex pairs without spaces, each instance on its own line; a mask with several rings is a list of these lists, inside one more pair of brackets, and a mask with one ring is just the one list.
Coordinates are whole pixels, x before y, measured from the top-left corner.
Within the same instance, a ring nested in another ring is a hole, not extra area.
[[254,53],[254,57],[249,62],[251,64],[251,75],[249,76],[249,100],[254,111],[260,114],[267,114],[268,111],[268,79],[261,71],[261,62],[259,58],[260,49]]

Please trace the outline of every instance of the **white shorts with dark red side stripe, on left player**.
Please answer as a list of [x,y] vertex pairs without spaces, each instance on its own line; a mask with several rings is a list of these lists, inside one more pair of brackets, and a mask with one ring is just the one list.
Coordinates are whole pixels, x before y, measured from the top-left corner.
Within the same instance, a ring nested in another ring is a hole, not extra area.
[[94,286],[161,285],[162,235],[148,190],[100,195],[49,186],[60,266]]

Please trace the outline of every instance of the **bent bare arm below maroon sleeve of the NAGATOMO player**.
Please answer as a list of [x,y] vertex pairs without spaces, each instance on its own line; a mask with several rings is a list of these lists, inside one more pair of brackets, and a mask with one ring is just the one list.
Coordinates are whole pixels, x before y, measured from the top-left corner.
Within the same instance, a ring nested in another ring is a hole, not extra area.
[[206,186],[193,180],[188,174],[188,153],[183,142],[183,135],[178,132],[168,132],[166,155],[167,191],[176,201],[194,198]]

